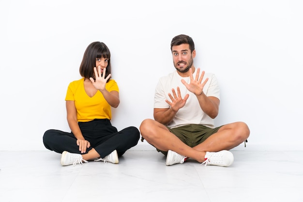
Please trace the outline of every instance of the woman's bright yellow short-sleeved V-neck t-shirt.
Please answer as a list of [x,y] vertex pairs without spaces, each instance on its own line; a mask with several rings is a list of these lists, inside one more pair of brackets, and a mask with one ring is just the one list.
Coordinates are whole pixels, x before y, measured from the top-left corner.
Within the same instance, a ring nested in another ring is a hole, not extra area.
[[[105,88],[109,92],[113,90],[119,92],[119,87],[113,79],[106,83]],[[87,122],[95,118],[111,120],[111,106],[99,90],[93,97],[86,94],[84,78],[73,81],[68,85],[65,101],[75,101],[77,120],[79,122]]]

